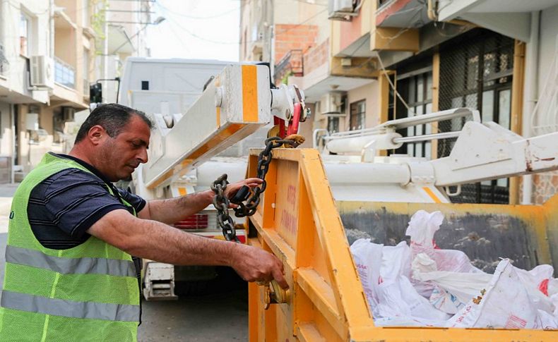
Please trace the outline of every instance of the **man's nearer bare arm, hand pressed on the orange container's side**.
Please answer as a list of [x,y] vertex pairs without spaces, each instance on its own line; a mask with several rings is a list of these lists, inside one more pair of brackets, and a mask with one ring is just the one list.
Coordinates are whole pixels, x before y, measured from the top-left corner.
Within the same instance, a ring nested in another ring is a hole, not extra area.
[[88,233],[136,257],[168,264],[230,266],[246,281],[275,279],[281,287],[288,288],[283,263],[271,253],[138,219],[125,209],[105,214]]

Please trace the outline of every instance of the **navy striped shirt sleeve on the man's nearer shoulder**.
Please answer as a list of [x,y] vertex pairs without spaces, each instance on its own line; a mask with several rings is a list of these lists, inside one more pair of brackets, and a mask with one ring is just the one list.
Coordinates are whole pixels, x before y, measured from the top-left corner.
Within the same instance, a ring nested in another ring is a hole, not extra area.
[[44,192],[44,207],[54,224],[72,238],[81,238],[108,212],[126,209],[92,173],[71,169],[51,178]]

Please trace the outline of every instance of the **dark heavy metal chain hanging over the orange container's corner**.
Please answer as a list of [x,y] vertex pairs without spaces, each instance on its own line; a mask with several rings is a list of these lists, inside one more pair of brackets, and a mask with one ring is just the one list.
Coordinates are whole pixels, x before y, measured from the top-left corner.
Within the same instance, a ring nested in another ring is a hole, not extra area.
[[[266,148],[264,148],[258,156],[258,170],[256,175],[263,182],[256,188],[251,189],[251,196],[246,200],[246,204],[244,204],[244,202],[237,202],[238,207],[234,209],[235,216],[245,217],[252,216],[256,213],[256,208],[260,203],[260,195],[266,191],[266,173],[268,173],[269,164],[273,157],[271,150],[285,144],[296,146],[297,142],[295,142],[295,140],[285,140],[279,137],[266,139]],[[230,200],[224,195],[228,183],[227,174],[224,174],[211,184],[211,190],[215,193],[213,197],[213,206],[217,209],[217,222],[222,229],[222,235],[225,236],[225,239],[228,241],[235,240],[239,242],[235,230],[235,222],[232,221],[232,218],[229,216]]]

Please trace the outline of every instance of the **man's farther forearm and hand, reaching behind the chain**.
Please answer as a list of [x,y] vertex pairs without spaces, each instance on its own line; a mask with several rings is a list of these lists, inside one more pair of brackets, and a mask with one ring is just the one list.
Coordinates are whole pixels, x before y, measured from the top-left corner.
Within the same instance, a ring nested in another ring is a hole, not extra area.
[[[243,185],[248,185],[250,188],[261,184],[260,178],[247,178],[237,183],[227,185],[225,195],[228,198],[237,193]],[[182,221],[188,216],[194,215],[213,201],[212,190],[200,191],[199,193],[192,193],[186,196],[174,197],[168,200],[150,200],[146,206],[138,213],[141,219],[150,219],[160,221],[165,224],[174,224]]]

